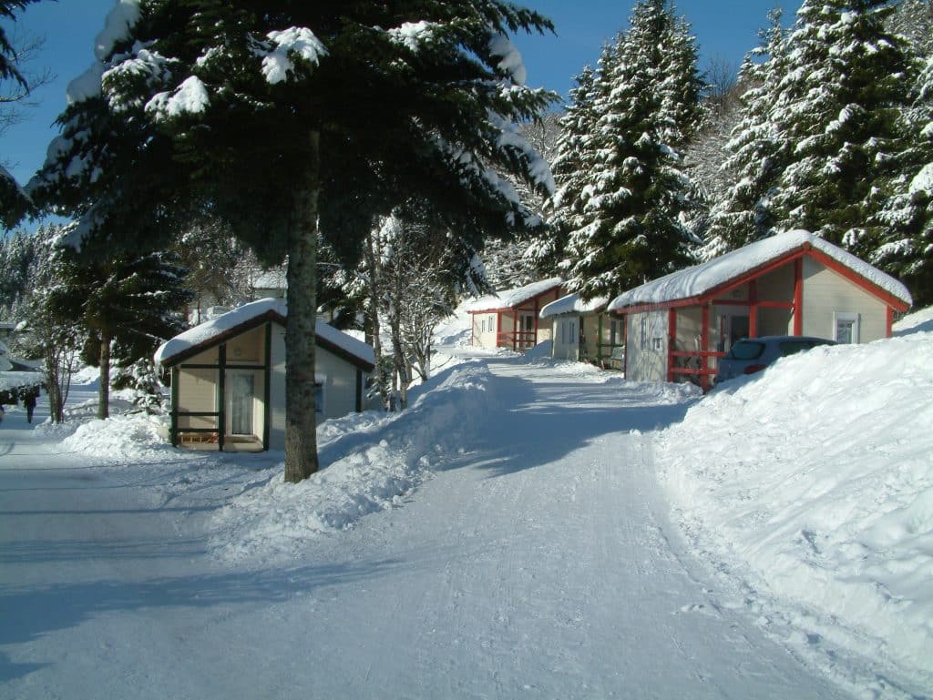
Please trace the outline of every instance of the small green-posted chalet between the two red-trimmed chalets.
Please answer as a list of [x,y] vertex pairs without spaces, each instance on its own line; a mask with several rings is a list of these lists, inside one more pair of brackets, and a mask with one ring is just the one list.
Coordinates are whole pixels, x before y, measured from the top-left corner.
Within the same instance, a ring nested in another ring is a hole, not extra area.
[[620,316],[609,313],[608,303],[606,297],[583,301],[571,294],[541,309],[541,320],[550,323],[551,356],[621,369],[625,324]]

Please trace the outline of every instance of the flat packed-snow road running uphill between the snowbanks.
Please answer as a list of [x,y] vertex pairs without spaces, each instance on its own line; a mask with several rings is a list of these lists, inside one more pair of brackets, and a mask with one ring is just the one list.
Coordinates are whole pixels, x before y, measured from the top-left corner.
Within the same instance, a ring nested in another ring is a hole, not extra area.
[[847,697],[723,604],[670,524],[643,432],[683,396],[487,362],[456,459],[285,567],[210,556],[255,471],[100,466],[9,414],[0,697]]

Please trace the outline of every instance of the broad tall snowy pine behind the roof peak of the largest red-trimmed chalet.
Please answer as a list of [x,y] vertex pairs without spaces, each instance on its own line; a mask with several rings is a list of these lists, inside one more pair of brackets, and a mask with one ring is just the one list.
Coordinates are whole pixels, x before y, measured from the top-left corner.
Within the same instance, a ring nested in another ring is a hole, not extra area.
[[884,28],[890,11],[887,0],[804,0],[772,112],[790,145],[775,226],[806,228],[866,259],[898,176],[912,77],[904,39]]

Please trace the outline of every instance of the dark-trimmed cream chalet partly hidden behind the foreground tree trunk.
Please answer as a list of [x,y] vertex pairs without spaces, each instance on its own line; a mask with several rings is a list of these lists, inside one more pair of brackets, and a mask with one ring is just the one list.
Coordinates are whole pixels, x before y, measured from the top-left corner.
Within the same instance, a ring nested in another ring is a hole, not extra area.
[[[201,323],[162,344],[155,361],[172,372],[174,446],[228,451],[285,449],[285,300],[266,298]],[[370,407],[372,348],[316,326],[318,419]]]

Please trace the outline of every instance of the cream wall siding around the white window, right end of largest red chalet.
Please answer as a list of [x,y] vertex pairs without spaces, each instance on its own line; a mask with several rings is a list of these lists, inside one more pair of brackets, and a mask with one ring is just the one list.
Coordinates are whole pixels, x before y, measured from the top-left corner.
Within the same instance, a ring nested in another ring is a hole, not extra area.
[[887,336],[884,302],[812,258],[803,258],[803,335],[834,339],[833,312],[859,315],[860,343]]

